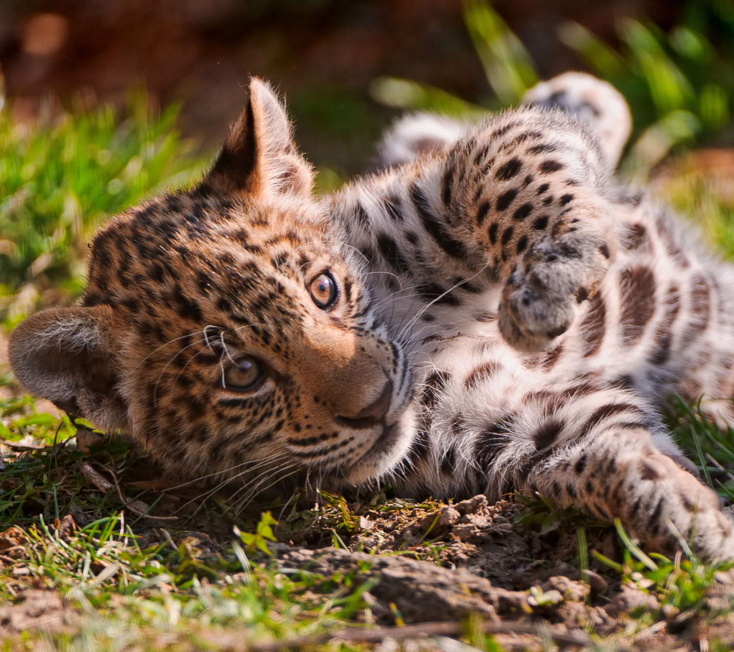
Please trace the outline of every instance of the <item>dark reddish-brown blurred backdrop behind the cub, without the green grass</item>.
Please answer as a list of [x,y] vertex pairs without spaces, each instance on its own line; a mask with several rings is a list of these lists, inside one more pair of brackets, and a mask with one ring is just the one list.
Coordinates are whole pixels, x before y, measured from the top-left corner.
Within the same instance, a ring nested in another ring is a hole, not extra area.
[[[495,93],[460,0],[3,0],[0,65],[15,120],[51,95],[70,109],[112,102],[131,87],[182,104],[179,125],[216,147],[241,110],[250,75],[288,100],[297,137],[319,166],[363,169],[393,114],[370,97],[376,78],[407,78],[491,106]],[[712,3],[712,7],[713,7]],[[559,39],[576,21],[612,47],[624,18],[669,31],[677,0],[497,0],[542,78],[586,68]]]

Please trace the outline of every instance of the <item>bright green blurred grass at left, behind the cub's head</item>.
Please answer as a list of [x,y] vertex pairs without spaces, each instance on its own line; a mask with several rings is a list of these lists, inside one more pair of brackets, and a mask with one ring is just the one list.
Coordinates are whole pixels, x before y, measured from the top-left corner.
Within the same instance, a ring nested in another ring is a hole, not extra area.
[[95,227],[200,169],[175,130],[178,107],[153,114],[145,92],[112,106],[15,125],[0,110],[0,314],[17,320],[81,291]]

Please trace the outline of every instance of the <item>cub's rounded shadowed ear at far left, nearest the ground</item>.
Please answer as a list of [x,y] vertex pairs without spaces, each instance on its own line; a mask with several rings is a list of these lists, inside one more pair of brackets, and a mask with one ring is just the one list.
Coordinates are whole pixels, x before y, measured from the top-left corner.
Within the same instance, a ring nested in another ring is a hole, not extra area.
[[117,390],[112,309],[48,309],[19,324],[8,352],[15,378],[32,394],[90,420],[125,428],[127,407]]

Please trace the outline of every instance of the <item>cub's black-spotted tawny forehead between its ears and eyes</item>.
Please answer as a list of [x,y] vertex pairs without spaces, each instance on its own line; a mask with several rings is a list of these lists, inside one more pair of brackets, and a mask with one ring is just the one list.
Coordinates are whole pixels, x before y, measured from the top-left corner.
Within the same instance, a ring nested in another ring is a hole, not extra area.
[[218,294],[235,296],[244,308],[264,286],[282,291],[314,266],[335,263],[327,229],[314,217],[287,203],[199,192],[158,197],[98,232],[84,303],[131,308],[203,296],[214,309]]

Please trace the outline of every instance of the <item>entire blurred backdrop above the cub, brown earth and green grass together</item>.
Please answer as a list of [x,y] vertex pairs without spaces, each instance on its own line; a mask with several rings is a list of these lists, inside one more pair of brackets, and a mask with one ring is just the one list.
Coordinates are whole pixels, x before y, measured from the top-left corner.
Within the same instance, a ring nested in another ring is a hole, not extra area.
[[107,216],[187,183],[277,85],[318,191],[406,109],[476,118],[587,70],[628,99],[620,172],[734,253],[734,0],[0,0],[0,318],[68,303]]

